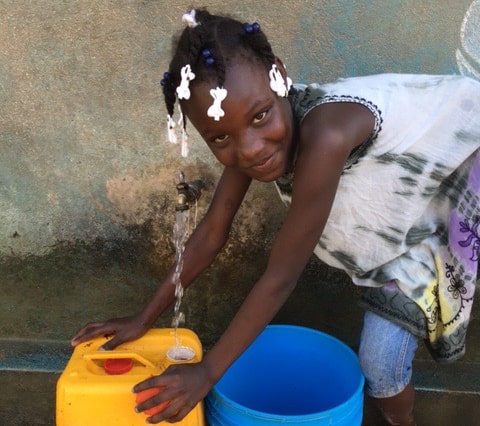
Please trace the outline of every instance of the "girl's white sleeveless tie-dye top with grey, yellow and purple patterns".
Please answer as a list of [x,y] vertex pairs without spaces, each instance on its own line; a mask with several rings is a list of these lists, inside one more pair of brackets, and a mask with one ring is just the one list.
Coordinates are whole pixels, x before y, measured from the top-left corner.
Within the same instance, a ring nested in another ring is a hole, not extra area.
[[[315,254],[369,288],[364,307],[427,338],[436,359],[459,358],[480,247],[480,83],[381,74],[295,85],[296,124],[329,102],[364,105],[375,127],[345,164]],[[287,205],[293,179],[276,182]]]

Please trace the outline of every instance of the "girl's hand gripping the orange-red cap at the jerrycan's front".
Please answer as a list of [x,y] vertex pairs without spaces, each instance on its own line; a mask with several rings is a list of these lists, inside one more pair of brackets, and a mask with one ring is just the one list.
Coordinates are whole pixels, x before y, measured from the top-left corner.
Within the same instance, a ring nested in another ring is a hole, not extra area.
[[148,423],[182,420],[212,388],[213,383],[203,363],[172,365],[160,376],[154,376],[138,383],[133,392],[159,388],[160,393],[135,407],[143,412],[168,401],[168,405],[158,414],[147,418]]

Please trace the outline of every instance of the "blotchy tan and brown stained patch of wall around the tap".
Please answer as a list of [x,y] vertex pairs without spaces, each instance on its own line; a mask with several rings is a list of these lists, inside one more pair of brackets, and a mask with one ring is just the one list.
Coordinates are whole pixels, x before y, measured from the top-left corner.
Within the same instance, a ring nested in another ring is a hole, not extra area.
[[[143,238],[154,247],[155,256],[164,258],[172,254],[172,227],[175,222],[176,184],[182,171],[187,182],[200,179],[205,188],[198,203],[190,207],[190,228],[205,214],[221,173],[207,163],[196,161],[182,170],[177,165],[151,165],[141,172],[114,176],[106,183],[106,198],[109,206],[100,209],[109,211],[112,221],[126,229],[142,230]],[[256,247],[265,248],[271,242],[275,228],[281,223],[281,215],[268,220],[263,214],[268,211],[270,200],[275,196],[270,185],[253,183],[255,190],[247,193],[235,218],[230,243],[223,256],[228,258],[231,245],[247,245],[248,252]],[[256,238],[252,239],[255,235]],[[237,253],[238,254],[238,253]]]

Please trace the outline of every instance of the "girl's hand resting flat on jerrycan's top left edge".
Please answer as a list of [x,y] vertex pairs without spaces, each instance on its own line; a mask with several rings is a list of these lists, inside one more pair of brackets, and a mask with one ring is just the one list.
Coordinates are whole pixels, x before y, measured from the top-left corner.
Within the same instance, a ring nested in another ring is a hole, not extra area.
[[124,342],[138,339],[150,328],[141,314],[124,318],[111,319],[104,322],[92,322],[83,327],[71,340],[72,346],[91,340],[99,336],[111,336],[113,338],[106,342],[101,350],[112,350]]

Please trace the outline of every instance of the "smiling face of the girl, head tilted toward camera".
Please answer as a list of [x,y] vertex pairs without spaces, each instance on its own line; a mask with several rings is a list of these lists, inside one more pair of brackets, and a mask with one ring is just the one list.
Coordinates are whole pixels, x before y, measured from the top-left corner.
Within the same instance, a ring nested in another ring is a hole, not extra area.
[[213,82],[195,84],[190,99],[182,101],[183,112],[215,157],[259,181],[280,177],[292,161],[292,110],[286,98],[270,89],[265,67],[237,60],[227,68],[225,115],[219,121],[207,116],[213,103],[210,90],[215,86]]

